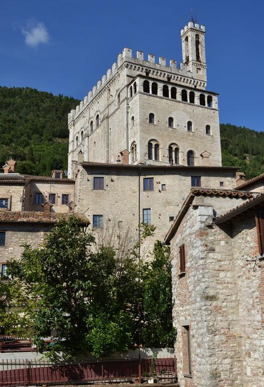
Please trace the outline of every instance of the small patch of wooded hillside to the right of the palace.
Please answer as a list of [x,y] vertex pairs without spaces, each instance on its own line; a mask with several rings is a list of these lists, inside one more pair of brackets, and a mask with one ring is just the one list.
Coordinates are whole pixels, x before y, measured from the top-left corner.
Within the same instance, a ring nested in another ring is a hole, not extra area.
[[223,166],[240,167],[247,179],[264,172],[264,132],[220,124]]

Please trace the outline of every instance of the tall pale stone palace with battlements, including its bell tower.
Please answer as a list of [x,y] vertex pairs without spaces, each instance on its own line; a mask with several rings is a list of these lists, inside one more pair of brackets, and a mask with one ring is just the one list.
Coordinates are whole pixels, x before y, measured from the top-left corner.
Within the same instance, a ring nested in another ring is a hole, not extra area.
[[[217,93],[206,91],[205,27],[189,22],[181,31],[183,61],[124,48],[117,63],[69,114],[69,177],[78,152],[84,161],[221,166]],[[154,114],[153,122],[150,114]],[[191,122],[191,126],[187,122]],[[158,150],[150,155],[150,143]],[[178,149],[175,158],[170,146]]]

